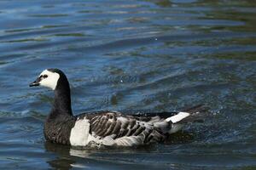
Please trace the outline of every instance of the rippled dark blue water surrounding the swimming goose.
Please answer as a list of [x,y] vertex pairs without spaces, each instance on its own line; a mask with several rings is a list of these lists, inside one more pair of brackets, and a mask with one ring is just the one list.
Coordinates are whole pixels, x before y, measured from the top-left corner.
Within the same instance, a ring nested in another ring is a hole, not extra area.
[[[255,15],[254,1],[1,1],[1,169],[256,168]],[[146,148],[48,144],[53,93],[28,84],[51,67],[76,114],[205,103],[212,116]]]

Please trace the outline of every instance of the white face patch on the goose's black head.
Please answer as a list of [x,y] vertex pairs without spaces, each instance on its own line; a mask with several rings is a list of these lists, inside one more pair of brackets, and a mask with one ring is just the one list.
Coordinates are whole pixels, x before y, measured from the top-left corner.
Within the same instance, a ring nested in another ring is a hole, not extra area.
[[40,86],[44,86],[47,88],[51,88],[52,90],[55,90],[57,82],[60,78],[60,75],[58,73],[45,70],[40,74],[40,76],[43,77],[43,79],[39,82]]

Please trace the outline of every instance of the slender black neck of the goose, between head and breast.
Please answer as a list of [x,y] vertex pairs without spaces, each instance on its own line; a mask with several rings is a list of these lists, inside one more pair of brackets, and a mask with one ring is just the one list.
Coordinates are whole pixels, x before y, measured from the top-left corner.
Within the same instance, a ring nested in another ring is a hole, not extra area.
[[70,88],[67,77],[62,77],[55,88],[55,99],[49,118],[73,116],[71,108]]

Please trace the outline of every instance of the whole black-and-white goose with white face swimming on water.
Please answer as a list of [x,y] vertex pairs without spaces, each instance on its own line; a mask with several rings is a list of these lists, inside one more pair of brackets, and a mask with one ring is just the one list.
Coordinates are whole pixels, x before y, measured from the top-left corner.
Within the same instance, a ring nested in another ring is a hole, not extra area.
[[118,111],[95,111],[73,116],[69,82],[58,69],[43,71],[30,86],[44,86],[55,92],[44,137],[57,144],[135,146],[161,142],[179,131],[186,122],[201,119],[204,107],[187,111],[125,115]]

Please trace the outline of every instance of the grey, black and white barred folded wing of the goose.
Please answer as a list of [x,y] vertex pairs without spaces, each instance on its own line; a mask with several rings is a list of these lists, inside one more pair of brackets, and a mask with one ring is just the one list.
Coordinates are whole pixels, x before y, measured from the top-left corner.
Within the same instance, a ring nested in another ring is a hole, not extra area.
[[154,122],[159,122],[160,117],[152,117],[148,122],[143,122],[139,116],[124,116],[113,111],[85,117],[90,122],[90,133],[96,143],[131,146],[150,144],[165,138],[154,127]]

